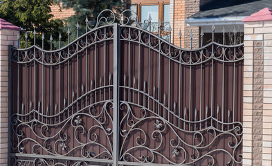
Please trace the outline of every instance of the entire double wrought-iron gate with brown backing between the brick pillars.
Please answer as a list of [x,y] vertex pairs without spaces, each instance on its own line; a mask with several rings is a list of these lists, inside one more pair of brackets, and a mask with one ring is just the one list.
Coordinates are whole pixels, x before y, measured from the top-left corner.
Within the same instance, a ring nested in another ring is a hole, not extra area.
[[10,165],[240,165],[243,44],[181,49],[103,12],[58,50],[10,49]]

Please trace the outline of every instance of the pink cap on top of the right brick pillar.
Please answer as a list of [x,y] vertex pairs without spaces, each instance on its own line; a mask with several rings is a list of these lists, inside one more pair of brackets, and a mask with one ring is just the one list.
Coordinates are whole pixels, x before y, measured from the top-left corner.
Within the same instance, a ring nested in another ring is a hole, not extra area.
[[270,8],[264,8],[259,12],[255,12],[251,16],[242,19],[243,22],[251,21],[272,21],[272,10]]

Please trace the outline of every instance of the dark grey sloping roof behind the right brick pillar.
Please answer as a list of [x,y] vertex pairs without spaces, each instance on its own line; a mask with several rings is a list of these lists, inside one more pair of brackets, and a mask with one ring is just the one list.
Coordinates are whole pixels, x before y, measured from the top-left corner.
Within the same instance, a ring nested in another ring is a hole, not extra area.
[[215,0],[188,19],[250,16],[263,8],[272,8],[272,0]]

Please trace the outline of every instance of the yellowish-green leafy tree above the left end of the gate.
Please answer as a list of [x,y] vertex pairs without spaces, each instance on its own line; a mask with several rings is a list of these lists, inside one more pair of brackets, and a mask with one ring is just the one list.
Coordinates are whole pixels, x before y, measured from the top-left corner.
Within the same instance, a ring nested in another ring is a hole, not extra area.
[[[0,3],[0,17],[22,28],[20,43],[23,48],[25,33],[28,33],[28,46],[33,45],[34,35],[30,32],[36,28],[36,43],[39,46],[42,44],[42,33],[44,33],[44,48],[49,49],[50,35],[53,35],[53,39],[58,39],[64,26],[62,20],[52,19],[51,6],[53,4],[55,4],[54,0],[3,0]],[[62,33],[62,39],[65,37],[65,33]]]

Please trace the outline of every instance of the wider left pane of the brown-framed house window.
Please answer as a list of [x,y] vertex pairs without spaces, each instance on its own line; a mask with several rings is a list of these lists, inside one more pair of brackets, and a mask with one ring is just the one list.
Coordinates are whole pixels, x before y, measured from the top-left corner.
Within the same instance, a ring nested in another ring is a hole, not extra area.
[[143,22],[151,15],[152,22],[158,22],[158,6],[140,6],[140,21]]

